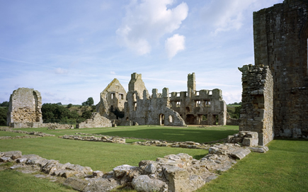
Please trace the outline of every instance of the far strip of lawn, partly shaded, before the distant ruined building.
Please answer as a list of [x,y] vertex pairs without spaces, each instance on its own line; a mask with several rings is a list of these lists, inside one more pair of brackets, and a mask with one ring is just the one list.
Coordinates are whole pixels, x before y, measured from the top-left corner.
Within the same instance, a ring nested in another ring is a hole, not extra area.
[[239,126],[214,126],[210,128],[198,127],[167,127],[159,125],[140,125],[140,126],[119,126],[116,128],[84,128],[74,130],[47,130],[47,128],[28,128],[21,129],[26,131],[40,131],[53,135],[74,135],[76,132],[84,132],[99,135],[110,135],[119,137],[135,137],[148,140],[167,140],[167,141],[194,141],[211,142],[221,140],[228,135],[239,132]]

